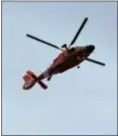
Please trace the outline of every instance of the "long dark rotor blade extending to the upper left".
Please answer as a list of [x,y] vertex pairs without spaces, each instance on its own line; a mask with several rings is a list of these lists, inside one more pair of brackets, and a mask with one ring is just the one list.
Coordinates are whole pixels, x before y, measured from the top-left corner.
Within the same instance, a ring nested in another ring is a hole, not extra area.
[[[44,44],[48,44],[48,45],[50,45],[50,46],[52,46],[52,47],[55,47],[55,49],[57,49],[57,50],[61,50],[57,45],[54,45],[54,44],[52,44],[52,43],[50,43],[50,42],[47,42],[47,41],[44,41],[44,40],[41,40],[41,39],[39,39],[39,38],[36,38],[36,37],[34,37],[34,36],[31,36],[31,35],[26,35],[28,38],[31,38],[31,39],[34,39],[34,40],[37,40],[37,41],[39,41],[39,42],[42,42],[42,43],[44,43]],[[62,51],[62,50],[61,50]]]

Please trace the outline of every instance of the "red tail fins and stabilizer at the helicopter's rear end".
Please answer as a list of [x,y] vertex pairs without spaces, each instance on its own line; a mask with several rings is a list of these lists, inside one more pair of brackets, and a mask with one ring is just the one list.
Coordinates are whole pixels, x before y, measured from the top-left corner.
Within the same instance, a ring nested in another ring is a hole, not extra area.
[[37,81],[37,76],[32,71],[27,71],[23,77],[25,80],[25,84],[23,86],[24,90],[31,89],[37,82],[43,90],[48,89],[48,86],[42,81]]

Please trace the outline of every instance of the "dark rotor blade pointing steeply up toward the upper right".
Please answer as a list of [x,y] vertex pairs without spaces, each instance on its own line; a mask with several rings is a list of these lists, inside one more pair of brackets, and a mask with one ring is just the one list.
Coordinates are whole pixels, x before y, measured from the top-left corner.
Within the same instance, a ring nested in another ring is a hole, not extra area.
[[69,47],[70,47],[70,46],[75,43],[75,41],[77,40],[77,38],[78,38],[78,36],[80,35],[82,28],[84,27],[87,21],[88,21],[88,17],[86,17],[86,18],[83,19],[83,22],[82,22],[80,28],[78,29],[76,36],[74,37],[73,41],[70,42]]

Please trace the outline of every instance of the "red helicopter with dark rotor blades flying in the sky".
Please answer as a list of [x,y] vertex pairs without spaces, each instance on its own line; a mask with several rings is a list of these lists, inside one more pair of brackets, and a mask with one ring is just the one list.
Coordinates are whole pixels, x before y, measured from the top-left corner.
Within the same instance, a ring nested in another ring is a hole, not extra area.
[[89,58],[90,54],[95,50],[95,45],[89,44],[86,46],[73,46],[74,43],[76,42],[78,36],[81,33],[81,30],[83,29],[84,25],[88,22],[88,17],[84,17],[80,28],[76,32],[75,37],[73,38],[71,42],[69,45],[63,44],[62,47],[58,47],[55,44],[52,44],[48,41],[41,40],[35,36],[31,36],[29,33],[26,33],[26,37],[37,40],[41,43],[44,43],[49,46],[52,46],[56,50],[60,50],[61,53],[60,55],[53,60],[50,67],[48,67],[38,77],[31,71],[27,70],[25,76],[23,76],[23,79],[25,81],[23,85],[23,90],[29,90],[31,89],[36,83],[38,83],[43,90],[48,89],[48,85],[42,82],[43,79],[47,79],[50,81],[53,76],[63,73],[74,67],[79,68],[80,64],[83,60],[88,60],[101,66],[105,66],[104,63],[94,60],[92,58]]

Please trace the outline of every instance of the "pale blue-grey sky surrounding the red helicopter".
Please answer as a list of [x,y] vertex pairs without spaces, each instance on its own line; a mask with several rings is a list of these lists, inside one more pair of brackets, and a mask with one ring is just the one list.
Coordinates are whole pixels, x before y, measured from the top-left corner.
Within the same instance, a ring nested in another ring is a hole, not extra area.
[[[89,17],[75,45],[94,44],[91,58],[24,92],[23,74],[39,74],[60,51],[26,38],[31,33],[61,46]],[[116,134],[117,4],[115,2],[2,3],[2,131],[12,134]]]

